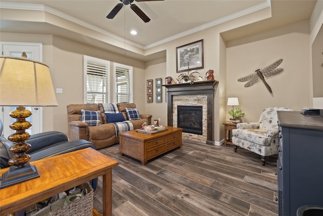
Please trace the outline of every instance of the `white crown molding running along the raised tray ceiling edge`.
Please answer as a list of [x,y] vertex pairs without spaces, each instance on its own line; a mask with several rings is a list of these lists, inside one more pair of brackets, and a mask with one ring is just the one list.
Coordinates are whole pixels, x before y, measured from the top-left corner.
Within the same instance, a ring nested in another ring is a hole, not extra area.
[[80,19],[77,19],[75,17],[72,17],[72,16],[70,16],[68,14],[65,14],[63,12],[60,12],[58,10],[55,10],[55,9],[50,8],[48,6],[45,6],[45,5],[40,5],[40,4],[25,4],[25,3],[10,3],[10,2],[1,2],[0,3],[0,8],[4,8],[4,9],[44,11],[44,12],[53,14],[55,16],[61,17],[63,19],[66,19],[68,21],[71,21],[73,23],[76,23],[78,25],[81,25],[81,26],[84,26],[86,28],[89,28],[89,29],[91,29],[93,31],[99,32],[101,34],[104,34],[106,36],[112,37],[114,39],[117,39],[117,40],[120,40],[120,41],[123,41],[123,42],[125,41],[129,45],[132,45],[134,47],[137,47],[137,48],[140,48],[140,49],[143,49],[143,50],[146,50],[146,49],[149,49],[149,48],[153,48],[153,47],[158,46],[158,45],[161,45],[161,44],[165,44],[166,42],[169,42],[171,40],[174,40],[174,39],[177,39],[177,38],[180,38],[180,37],[183,37],[183,36],[186,36],[186,35],[189,35],[189,34],[192,34],[192,33],[198,32],[198,31],[201,31],[201,30],[204,30],[204,29],[209,28],[209,27],[212,27],[212,26],[219,25],[221,23],[228,22],[228,21],[233,20],[233,19],[237,19],[239,17],[242,17],[242,16],[245,16],[245,15],[254,13],[256,11],[265,9],[267,7],[271,7],[271,0],[267,0],[266,2],[261,3],[261,4],[258,4],[258,5],[254,6],[254,7],[251,7],[251,8],[245,9],[245,10],[242,10],[240,12],[231,14],[231,15],[226,16],[226,17],[223,17],[221,19],[208,22],[208,23],[206,23],[204,25],[200,25],[200,26],[195,27],[195,28],[192,28],[190,30],[183,31],[183,32],[181,32],[179,34],[175,34],[175,35],[170,36],[170,37],[167,37],[165,39],[156,41],[156,42],[154,42],[154,43],[152,43],[150,45],[142,46],[142,45],[139,45],[139,44],[137,44],[137,43],[135,43],[135,42],[133,42],[131,40],[127,40],[124,37],[120,37],[120,36],[118,36],[116,34],[113,34],[113,33],[109,32],[109,31],[103,30],[103,29],[101,29],[101,28],[99,28],[99,27],[97,27],[95,25],[89,24],[87,22],[84,22],[84,21],[82,21]]

